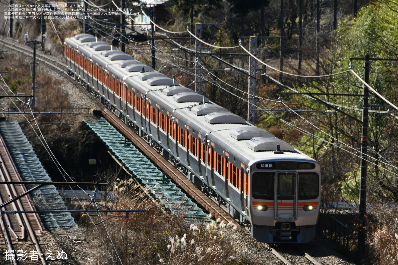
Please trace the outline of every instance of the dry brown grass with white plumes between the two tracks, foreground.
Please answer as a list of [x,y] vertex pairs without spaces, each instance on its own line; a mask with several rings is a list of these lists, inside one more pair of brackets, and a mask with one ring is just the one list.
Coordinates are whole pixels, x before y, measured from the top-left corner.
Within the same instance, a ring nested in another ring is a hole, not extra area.
[[113,208],[147,211],[130,213],[128,219],[110,219],[96,228],[89,226],[87,241],[106,246],[99,251],[100,265],[119,259],[124,265],[247,264],[234,250],[236,227],[232,224],[209,221],[189,225],[184,219],[161,211],[144,193],[135,193],[135,188],[127,190],[130,190],[127,197],[119,194]]

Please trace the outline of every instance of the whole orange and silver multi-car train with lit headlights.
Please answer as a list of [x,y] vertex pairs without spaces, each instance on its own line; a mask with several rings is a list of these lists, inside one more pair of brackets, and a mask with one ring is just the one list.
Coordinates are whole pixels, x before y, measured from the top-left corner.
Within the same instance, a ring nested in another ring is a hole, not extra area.
[[92,35],[67,38],[65,57],[72,77],[258,241],[314,238],[317,161]]

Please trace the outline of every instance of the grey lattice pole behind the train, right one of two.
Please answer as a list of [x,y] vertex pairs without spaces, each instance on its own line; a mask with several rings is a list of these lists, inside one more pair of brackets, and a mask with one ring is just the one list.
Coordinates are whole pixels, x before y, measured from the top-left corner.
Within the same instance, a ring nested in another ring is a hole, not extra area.
[[[257,37],[250,37],[249,51],[254,56],[257,56]],[[248,122],[256,124],[256,113],[254,108],[256,107],[256,72],[257,72],[257,60],[252,56],[249,56],[249,91],[248,91]]]

